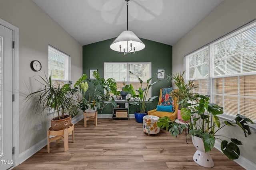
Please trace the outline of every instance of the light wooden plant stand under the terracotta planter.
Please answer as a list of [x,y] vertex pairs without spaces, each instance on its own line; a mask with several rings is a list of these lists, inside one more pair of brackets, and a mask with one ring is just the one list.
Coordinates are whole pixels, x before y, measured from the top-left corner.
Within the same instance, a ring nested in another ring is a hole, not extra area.
[[[51,137],[55,136],[55,137]],[[47,152],[50,153],[50,143],[52,141],[56,141],[56,143],[60,143],[60,139],[64,141],[64,152],[68,151],[68,136],[72,135],[72,142],[75,142],[75,133],[74,133],[74,125],[71,123],[67,129],[54,131],[52,127],[47,131]]]

